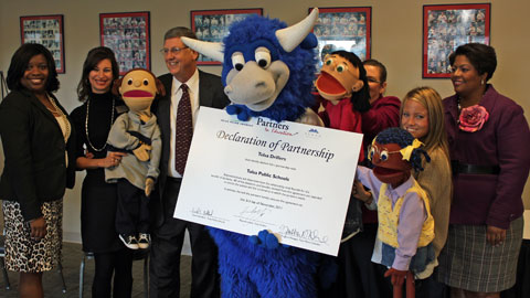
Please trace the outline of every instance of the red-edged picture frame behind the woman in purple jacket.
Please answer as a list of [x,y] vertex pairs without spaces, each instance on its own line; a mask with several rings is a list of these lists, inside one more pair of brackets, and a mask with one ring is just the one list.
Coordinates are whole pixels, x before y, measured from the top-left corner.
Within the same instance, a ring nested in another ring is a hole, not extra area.
[[449,55],[462,44],[490,42],[490,3],[423,6],[423,77],[451,77]]

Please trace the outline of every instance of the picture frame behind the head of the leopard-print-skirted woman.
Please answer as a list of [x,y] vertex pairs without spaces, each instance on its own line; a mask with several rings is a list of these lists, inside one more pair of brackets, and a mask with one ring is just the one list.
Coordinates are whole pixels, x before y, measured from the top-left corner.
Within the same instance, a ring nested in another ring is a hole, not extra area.
[[21,43],[44,45],[55,61],[55,70],[64,74],[64,17],[63,14],[20,17]]

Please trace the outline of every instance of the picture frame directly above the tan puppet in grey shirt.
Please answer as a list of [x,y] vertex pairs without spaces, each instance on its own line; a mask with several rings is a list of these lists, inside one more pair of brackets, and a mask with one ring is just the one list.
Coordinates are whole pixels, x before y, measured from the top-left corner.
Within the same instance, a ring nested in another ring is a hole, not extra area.
[[114,51],[119,75],[151,70],[149,11],[99,13],[100,44]]

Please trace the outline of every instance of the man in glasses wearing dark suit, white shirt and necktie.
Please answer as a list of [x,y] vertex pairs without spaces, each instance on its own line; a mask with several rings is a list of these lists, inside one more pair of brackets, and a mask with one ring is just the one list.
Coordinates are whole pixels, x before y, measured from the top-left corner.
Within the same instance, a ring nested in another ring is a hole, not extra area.
[[178,143],[182,140],[182,135],[179,135],[181,114],[178,109],[181,99],[189,97],[191,124],[194,123],[199,106],[224,108],[229,99],[219,76],[197,68],[199,53],[186,46],[181,36],[197,39],[191,30],[181,26],[170,29],[163,38],[161,53],[169,74],[159,78],[166,88],[166,96],[158,98],[152,106],[162,132],[162,157],[157,189],[160,200],[156,195],[151,200],[153,231],[149,292],[153,298],[179,297],[180,254],[188,230],[193,254],[191,297],[219,297],[218,248],[213,240],[203,225],[173,219],[183,174],[178,164],[182,151],[186,151]]

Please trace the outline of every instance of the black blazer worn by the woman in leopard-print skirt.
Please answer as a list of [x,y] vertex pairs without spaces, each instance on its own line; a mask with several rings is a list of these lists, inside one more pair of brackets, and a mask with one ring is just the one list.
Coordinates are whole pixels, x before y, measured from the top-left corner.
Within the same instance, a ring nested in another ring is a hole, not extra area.
[[0,105],[0,137],[6,158],[0,199],[19,202],[25,221],[42,216],[43,202],[60,200],[65,188],[74,187],[75,129],[71,127],[68,142],[64,143],[53,114],[25,89],[11,92]]

